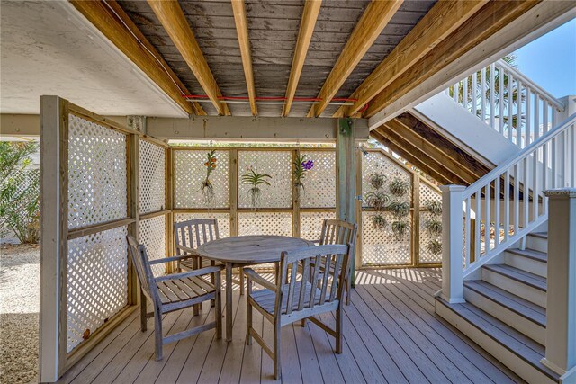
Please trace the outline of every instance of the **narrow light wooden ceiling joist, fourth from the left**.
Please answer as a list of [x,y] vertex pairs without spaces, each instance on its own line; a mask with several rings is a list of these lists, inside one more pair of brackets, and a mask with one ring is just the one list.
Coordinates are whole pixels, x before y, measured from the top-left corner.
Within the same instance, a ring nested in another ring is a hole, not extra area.
[[304,67],[304,59],[310,47],[310,40],[312,32],[316,26],[316,19],[320,13],[320,5],[322,0],[307,0],[304,4],[302,11],[302,21],[300,22],[300,31],[298,32],[298,40],[296,40],[296,49],[294,49],[294,56],[292,60],[292,69],[290,70],[290,79],[286,87],[286,103],[284,104],[283,116],[288,116],[292,108],[294,94],[302,75],[302,67]]

